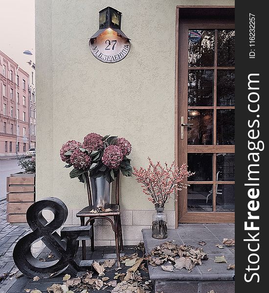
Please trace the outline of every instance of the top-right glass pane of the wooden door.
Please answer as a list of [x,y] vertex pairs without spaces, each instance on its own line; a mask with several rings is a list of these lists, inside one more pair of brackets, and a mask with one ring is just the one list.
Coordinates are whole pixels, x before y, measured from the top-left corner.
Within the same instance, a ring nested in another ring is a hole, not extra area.
[[218,30],[218,66],[234,66],[234,29]]

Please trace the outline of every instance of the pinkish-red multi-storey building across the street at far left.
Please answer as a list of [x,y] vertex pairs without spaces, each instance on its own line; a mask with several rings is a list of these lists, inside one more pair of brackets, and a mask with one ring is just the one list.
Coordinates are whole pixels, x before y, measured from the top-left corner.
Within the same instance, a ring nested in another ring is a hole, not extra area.
[[30,147],[29,74],[0,51],[0,156]]

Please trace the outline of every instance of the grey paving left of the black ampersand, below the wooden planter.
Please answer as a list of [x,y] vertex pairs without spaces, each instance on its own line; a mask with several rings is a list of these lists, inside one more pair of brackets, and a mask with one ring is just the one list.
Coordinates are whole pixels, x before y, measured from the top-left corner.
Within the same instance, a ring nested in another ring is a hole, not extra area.
[[0,201],[0,291],[9,281],[8,275],[16,272],[12,252],[16,242],[29,231],[28,226],[12,226],[6,222],[6,200]]

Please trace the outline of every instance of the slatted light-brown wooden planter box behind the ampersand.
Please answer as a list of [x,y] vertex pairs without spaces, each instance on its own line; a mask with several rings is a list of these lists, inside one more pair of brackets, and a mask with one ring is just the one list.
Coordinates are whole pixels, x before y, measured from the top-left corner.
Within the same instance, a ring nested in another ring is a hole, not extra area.
[[26,211],[35,202],[35,174],[10,174],[6,191],[7,222],[27,223]]

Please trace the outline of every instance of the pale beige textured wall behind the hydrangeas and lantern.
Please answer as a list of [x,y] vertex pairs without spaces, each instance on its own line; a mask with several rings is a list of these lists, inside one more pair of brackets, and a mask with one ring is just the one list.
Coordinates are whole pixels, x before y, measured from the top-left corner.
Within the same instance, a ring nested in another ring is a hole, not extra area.
[[[234,1],[36,0],[37,199],[62,199],[68,224],[78,223],[75,212],[87,205],[87,192],[63,168],[59,150],[67,140],[83,141],[90,132],[125,137],[136,167],[147,166],[148,156],[161,162],[175,158],[177,5]],[[88,45],[98,29],[98,11],[107,6],[123,13],[122,30],[132,39],[128,56],[113,64],[95,59]],[[124,238],[140,240],[153,205],[134,178],[124,177],[120,191]],[[171,227],[174,209],[173,202],[166,207]],[[104,227],[97,239],[113,239],[104,236]]]

